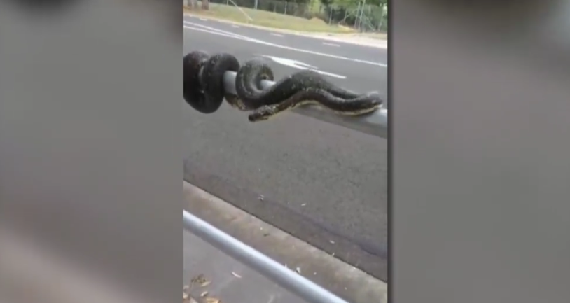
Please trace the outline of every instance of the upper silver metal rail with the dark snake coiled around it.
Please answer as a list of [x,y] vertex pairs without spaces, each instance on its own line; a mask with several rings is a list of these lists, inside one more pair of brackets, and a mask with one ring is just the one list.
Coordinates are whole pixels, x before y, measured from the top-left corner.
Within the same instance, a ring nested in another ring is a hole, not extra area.
[[[225,92],[236,94],[235,92],[235,75],[233,71],[226,71],[223,75],[223,85]],[[268,80],[261,81],[263,88],[269,88],[275,83]],[[356,117],[335,115],[319,108],[318,106],[303,106],[293,109],[296,113],[312,117],[321,121],[333,123],[354,129],[359,132],[379,136],[380,138],[388,138],[388,108],[380,108],[374,113],[361,115]]]

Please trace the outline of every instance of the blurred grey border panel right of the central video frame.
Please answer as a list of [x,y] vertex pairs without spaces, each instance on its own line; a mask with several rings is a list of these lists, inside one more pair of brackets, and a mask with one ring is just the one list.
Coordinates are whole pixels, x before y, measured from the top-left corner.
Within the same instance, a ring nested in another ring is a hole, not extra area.
[[568,302],[570,10],[395,2],[390,300]]

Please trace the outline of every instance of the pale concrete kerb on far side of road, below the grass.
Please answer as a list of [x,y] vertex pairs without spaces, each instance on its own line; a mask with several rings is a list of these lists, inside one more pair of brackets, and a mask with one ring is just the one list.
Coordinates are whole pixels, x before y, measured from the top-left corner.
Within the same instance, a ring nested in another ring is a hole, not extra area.
[[378,39],[379,41],[382,41],[382,43],[366,43],[366,42],[363,43],[363,42],[342,40],[343,35],[352,35],[352,34],[329,34],[329,33],[319,33],[319,32],[307,33],[307,32],[300,32],[300,31],[289,31],[286,29],[277,29],[277,28],[272,28],[272,27],[261,27],[258,25],[247,24],[247,23],[243,23],[243,22],[235,22],[235,21],[225,20],[225,19],[221,19],[221,18],[217,18],[217,17],[211,17],[211,16],[205,17],[202,15],[197,15],[197,14],[188,13],[188,12],[185,12],[184,15],[191,16],[191,17],[197,17],[197,18],[203,18],[206,20],[215,20],[217,22],[234,24],[234,25],[239,25],[239,26],[243,26],[243,27],[253,27],[256,29],[263,29],[266,31],[274,31],[274,32],[279,32],[279,33],[283,33],[283,34],[305,36],[305,37],[316,38],[316,39],[326,40],[326,41],[334,41],[334,42],[339,42],[339,43],[368,46],[370,48],[380,48],[383,50],[386,50],[388,48],[388,41],[382,40],[382,39]]

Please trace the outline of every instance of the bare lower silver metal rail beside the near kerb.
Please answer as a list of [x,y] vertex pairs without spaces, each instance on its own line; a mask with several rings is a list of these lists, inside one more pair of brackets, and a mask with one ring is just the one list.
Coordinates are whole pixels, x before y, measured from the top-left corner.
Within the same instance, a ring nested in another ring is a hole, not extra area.
[[347,303],[284,265],[183,211],[184,228],[310,303]]

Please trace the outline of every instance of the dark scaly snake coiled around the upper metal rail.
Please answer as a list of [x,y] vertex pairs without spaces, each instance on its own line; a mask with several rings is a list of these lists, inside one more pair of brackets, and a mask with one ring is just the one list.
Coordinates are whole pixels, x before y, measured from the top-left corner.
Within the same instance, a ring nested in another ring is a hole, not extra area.
[[[225,92],[226,71],[236,73],[236,94]],[[263,87],[263,80],[274,80],[265,60],[251,59],[242,66],[227,53],[209,56],[205,52],[190,52],[184,56],[183,74],[184,100],[196,111],[214,113],[225,99],[240,111],[251,111],[251,122],[267,120],[306,104],[316,104],[339,115],[363,115],[383,103],[378,92],[357,94],[333,85],[312,70],[298,71]]]

